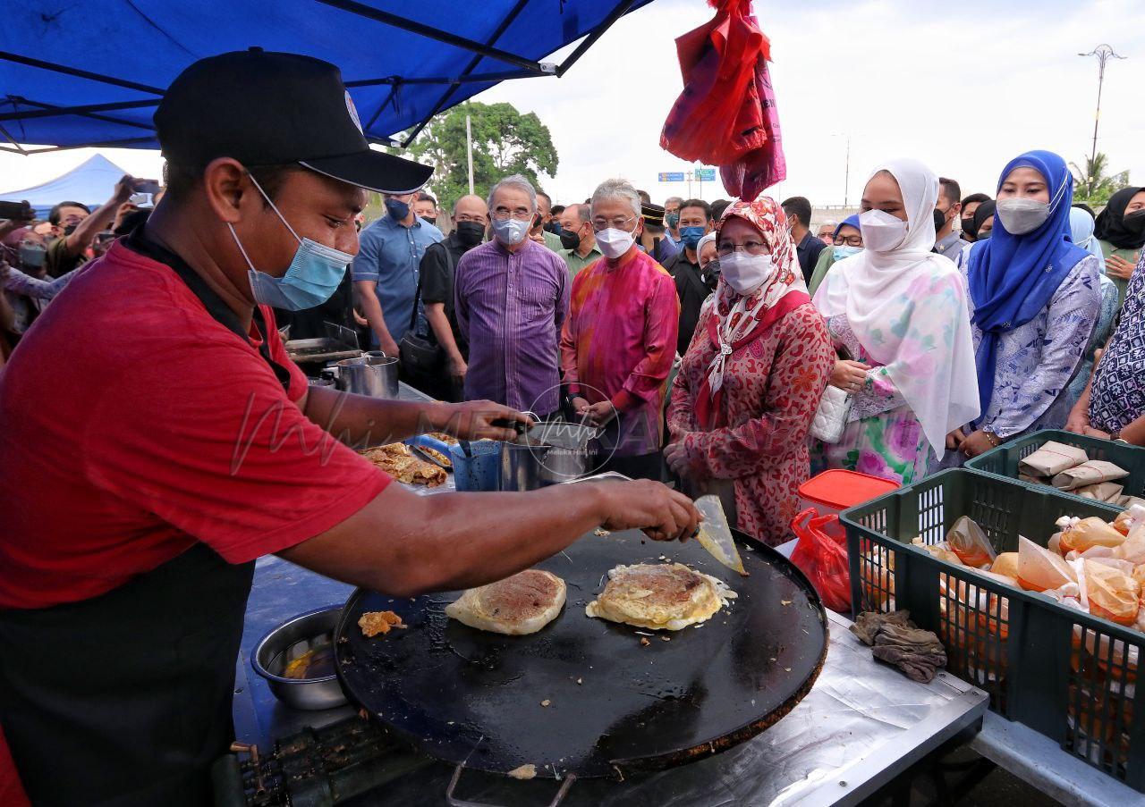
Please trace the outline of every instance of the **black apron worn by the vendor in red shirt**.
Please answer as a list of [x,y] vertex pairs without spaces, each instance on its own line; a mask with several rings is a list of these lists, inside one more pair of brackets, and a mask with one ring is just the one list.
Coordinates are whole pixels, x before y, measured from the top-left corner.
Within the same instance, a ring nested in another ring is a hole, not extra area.
[[[171,267],[244,339],[238,317],[142,228],[128,245]],[[284,388],[290,372],[262,356]],[[254,562],[205,544],[81,602],[0,610],[0,725],[35,805],[211,804],[235,736],[235,663]]]

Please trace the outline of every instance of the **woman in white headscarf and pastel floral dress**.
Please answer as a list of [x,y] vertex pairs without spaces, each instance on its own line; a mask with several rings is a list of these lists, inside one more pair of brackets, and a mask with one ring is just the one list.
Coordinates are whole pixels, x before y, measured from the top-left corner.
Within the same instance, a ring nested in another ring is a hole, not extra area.
[[978,417],[966,292],[934,248],[938,176],[893,160],[868,180],[863,251],[815,292],[839,351],[831,385],[852,396],[839,442],[815,441],[813,470],[845,468],[910,484],[945,453],[947,435]]

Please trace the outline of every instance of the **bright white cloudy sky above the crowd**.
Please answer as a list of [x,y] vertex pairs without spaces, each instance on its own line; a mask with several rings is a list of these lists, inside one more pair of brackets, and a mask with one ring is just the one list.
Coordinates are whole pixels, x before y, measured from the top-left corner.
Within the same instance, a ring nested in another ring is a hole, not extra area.
[[[788,161],[775,196],[842,204],[848,139],[851,204],[870,169],[893,157],[922,159],[964,193],[992,192],[1005,163],[1028,149],[1081,163],[1098,66],[1077,53],[1101,42],[1129,58],[1106,69],[1098,149],[1145,184],[1143,0],[755,0],[755,8],[772,40]],[[684,196],[686,184],[657,182],[660,172],[693,167],[660,148],[660,130],[681,89],[673,40],[711,15],[704,0],[655,0],[564,77],[504,82],[476,100],[511,102],[548,126],[560,167],[543,184],[559,203],[584,199],[609,176],[657,200]],[[102,152],[139,176],[161,165],[157,152]],[[37,184],[90,153],[0,155],[0,185]],[[724,188],[705,183],[703,196],[722,197]]]

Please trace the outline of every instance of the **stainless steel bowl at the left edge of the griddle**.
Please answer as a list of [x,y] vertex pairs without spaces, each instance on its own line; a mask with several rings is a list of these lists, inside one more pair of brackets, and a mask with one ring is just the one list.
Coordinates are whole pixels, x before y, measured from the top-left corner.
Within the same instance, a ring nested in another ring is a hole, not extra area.
[[333,644],[334,628],[341,614],[341,606],[325,606],[299,614],[273,628],[251,651],[254,672],[267,679],[270,691],[287,706],[315,711],[346,703],[338,675],[285,678],[282,674],[287,664],[307,650]]

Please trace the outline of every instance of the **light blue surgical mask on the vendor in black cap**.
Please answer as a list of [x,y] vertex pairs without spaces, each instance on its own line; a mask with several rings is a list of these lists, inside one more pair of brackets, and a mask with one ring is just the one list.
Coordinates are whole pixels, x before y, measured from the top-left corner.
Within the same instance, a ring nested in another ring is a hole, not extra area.
[[251,182],[259,189],[262,198],[267,200],[290,234],[298,239],[298,250],[294,252],[294,260],[290,262],[286,274],[282,277],[275,277],[254,268],[250,255],[243,248],[243,243],[238,240],[235,228],[229,222],[227,223],[227,227],[230,228],[230,235],[235,238],[235,244],[238,245],[238,251],[243,253],[246,266],[250,267],[247,275],[251,278],[251,293],[254,295],[254,301],[287,311],[300,311],[305,308],[321,306],[337,291],[338,285],[346,276],[346,267],[354,260],[354,255],[324,246],[309,238],[299,238],[294,228],[287,223],[283,214],[275,207],[275,203],[270,201],[270,197],[263,192],[253,176]]

